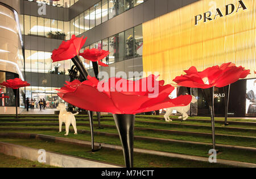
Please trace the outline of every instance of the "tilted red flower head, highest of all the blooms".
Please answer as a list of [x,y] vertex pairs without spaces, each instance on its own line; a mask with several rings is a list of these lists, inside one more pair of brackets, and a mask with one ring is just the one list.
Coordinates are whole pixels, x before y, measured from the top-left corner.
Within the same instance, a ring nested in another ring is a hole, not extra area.
[[68,60],[77,56],[86,39],[87,37],[84,39],[84,36],[77,38],[75,35],[72,35],[70,40],[63,41],[58,49],[52,51],[52,61]]

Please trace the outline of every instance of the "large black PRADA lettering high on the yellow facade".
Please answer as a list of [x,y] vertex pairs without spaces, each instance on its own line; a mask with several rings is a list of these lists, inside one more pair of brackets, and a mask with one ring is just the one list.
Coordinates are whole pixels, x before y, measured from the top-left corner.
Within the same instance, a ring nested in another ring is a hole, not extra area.
[[233,13],[238,13],[239,10],[246,10],[247,7],[242,0],[238,1],[238,5],[229,4],[225,6],[225,11],[221,11],[219,8],[216,9],[215,12],[208,11],[204,14],[199,14],[195,16],[195,26],[199,24],[199,22],[208,22],[211,20],[215,20],[216,18],[222,18],[227,15],[231,15]]

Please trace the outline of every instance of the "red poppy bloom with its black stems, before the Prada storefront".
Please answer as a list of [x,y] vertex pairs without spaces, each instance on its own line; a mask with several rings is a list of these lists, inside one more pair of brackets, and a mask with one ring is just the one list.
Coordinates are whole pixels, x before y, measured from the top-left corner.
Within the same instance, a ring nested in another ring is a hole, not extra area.
[[215,130],[214,130],[214,86],[224,88],[225,91],[225,124],[228,114],[228,97],[230,84],[238,81],[240,78],[247,77],[250,70],[245,70],[242,66],[236,66],[232,63],[222,64],[221,66],[212,66],[198,72],[195,66],[184,71],[186,74],[177,76],[173,81],[178,86],[188,88],[201,88],[203,95],[209,105],[210,118],[212,120],[212,138],[213,149],[215,149]]

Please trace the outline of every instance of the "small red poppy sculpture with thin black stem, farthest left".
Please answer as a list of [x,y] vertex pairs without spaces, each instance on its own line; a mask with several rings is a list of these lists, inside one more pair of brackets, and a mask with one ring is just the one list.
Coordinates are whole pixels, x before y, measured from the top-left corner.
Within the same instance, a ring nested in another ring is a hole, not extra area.
[[18,118],[18,94],[19,88],[30,86],[27,81],[22,81],[20,78],[14,78],[11,80],[6,80],[0,84],[1,86],[5,86],[6,88],[12,88],[15,95],[15,106],[16,106],[16,118]]

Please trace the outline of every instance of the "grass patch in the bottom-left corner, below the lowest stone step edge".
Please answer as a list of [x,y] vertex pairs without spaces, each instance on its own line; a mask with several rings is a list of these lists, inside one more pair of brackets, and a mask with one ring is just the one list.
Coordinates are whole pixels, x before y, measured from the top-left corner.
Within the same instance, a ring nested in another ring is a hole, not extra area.
[[0,153],[0,168],[52,168],[54,166],[45,165],[36,161],[19,159],[14,156]]

